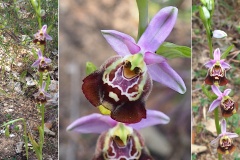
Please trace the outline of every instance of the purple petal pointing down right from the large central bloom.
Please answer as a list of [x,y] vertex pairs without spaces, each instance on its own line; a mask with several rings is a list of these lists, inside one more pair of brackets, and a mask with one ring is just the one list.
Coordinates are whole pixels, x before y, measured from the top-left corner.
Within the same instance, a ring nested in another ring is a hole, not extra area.
[[148,73],[152,79],[166,85],[167,87],[183,94],[186,92],[186,86],[182,78],[175,72],[167,62],[148,65]]

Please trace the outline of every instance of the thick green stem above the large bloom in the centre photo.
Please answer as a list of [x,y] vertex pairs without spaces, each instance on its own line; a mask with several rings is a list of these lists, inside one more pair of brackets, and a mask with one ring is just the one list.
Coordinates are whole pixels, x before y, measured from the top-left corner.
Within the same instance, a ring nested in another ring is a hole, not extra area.
[[145,31],[148,25],[148,0],[136,0],[139,13],[138,36],[137,41]]

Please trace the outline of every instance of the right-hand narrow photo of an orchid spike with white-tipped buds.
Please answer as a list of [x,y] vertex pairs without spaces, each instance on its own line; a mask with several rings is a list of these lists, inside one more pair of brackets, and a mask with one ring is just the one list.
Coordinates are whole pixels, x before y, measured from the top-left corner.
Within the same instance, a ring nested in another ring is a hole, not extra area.
[[193,160],[239,159],[239,7],[193,0]]

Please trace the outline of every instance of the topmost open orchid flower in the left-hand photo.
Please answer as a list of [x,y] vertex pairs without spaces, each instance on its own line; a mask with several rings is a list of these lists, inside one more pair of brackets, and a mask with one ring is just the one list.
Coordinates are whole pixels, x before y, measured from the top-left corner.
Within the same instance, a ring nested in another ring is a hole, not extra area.
[[36,34],[34,34],[33,43],[45,45],[46,40],[52,40],[52,37],[47,34],[47,25],[43,25]]

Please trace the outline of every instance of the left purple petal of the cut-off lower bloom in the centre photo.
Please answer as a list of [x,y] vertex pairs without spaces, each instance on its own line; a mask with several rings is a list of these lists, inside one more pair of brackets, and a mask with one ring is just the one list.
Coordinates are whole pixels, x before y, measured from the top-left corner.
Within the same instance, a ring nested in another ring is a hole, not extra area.
[[116,124],[117,122],[109,116],[94,113],[78,118],[67,127],[67,130],[80,133],[102,133]]

